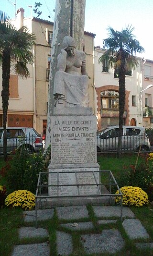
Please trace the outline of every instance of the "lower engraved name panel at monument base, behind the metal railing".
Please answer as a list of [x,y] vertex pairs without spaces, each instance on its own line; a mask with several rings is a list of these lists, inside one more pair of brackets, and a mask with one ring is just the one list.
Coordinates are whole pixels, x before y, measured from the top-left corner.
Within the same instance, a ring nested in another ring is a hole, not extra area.
[[[92,168],[92,171],[98,171],[98,168]],[[60,173],[55,173],[55,171]],[[74,173],[69,171],[74,171]],[[75,172],[76,171],[76,172]],[[81,171],[81,172],[77,172]],[[87,172],[85,172],[87,171]],[[72,185],[72,186],[59,186],[50,187],[49,194],[51,196],[64,196],[64,195],[98,195],[99,186],[86,185],[99,183],[99,173],[90,172],[90,168],[77,168],[77,169],[57,169],[50,170],[49,185]],[[61,173],[62,172],[62,173]],[[73,186],[79,184],[79,186]],[[84,184],[84,185],[81,185]]]

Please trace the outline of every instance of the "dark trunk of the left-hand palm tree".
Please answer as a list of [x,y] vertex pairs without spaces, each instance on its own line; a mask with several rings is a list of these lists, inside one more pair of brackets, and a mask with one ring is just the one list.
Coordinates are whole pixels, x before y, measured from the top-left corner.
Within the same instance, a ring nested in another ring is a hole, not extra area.
[[7,160],[7,133],[6,133],[6,124],[7,124],[7,112],[9,105],[9,83],[10,83],[10,71],[11,71],[11,59],[10,53],[8,51],[3,51],[2,55],[2,108],[3,108],[3,154],[4,160]]

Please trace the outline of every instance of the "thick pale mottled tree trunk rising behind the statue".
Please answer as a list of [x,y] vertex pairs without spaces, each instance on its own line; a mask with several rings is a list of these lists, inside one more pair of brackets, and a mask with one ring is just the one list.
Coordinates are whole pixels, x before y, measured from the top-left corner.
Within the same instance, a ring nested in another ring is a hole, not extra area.
[[86,0],[56,0],[53,43],[51,49],[50,78],[48,91],[48,114],[45,148],[51,144],[50,127],[55,100],[53,98],[54,77],[57,71],[57,56],[61,51],[63,38],[71,36],[76,49],[83,50]]

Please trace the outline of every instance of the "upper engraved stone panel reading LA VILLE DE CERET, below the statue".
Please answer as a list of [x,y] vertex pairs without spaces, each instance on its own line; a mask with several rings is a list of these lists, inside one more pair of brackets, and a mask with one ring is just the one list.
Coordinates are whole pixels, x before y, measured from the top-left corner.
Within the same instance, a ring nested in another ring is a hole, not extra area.
[[96,163],[95,116],[51,116],[51,164]]

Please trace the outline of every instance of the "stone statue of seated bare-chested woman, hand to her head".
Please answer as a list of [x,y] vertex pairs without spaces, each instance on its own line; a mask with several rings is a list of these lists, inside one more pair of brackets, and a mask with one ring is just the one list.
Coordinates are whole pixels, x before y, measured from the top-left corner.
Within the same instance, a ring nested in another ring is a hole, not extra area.
[[86,71],[86,55],[76,50],[72,37],[66,36],[61,53],[57,57],[54,81],[55,107],[88,107],[89,79]]

